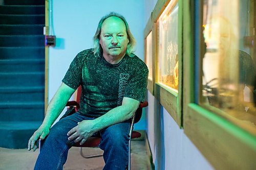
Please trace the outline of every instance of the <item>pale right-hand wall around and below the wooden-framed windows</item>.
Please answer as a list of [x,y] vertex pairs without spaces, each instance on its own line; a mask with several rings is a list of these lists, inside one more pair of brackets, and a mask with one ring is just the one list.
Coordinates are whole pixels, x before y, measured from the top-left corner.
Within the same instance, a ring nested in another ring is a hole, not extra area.
[[[156,3],[146,1],[145,23]],[[147,101],[147,137],[155,169],[214,169],[149,91]]]

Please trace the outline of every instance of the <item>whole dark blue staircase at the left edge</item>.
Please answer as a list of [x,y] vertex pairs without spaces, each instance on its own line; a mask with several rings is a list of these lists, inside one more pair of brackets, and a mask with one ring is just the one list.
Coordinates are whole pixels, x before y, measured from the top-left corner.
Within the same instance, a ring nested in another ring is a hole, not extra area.
[[44,119],[44,0],[0,0],[0,147],[27,148]]

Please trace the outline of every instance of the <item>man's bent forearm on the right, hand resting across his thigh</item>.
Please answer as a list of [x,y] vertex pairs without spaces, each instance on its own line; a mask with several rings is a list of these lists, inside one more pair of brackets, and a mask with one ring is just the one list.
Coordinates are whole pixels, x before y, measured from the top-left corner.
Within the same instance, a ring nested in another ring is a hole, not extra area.
[[75,142],[81,141],[80,144],[83,144],[95,132],[131,118],[138,109],[139,104],[140,102],[135,99],[123,98],[121,106],[94,120],[83,120],[78,123],[76,127],[68,132],[69,140],[75,139]]

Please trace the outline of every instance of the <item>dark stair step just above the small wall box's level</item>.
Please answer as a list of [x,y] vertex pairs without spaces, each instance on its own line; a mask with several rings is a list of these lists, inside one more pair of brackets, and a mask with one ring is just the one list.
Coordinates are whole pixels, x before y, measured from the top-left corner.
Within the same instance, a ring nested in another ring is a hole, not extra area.
[[0,25],[0,35],[42,35],[45,25]]

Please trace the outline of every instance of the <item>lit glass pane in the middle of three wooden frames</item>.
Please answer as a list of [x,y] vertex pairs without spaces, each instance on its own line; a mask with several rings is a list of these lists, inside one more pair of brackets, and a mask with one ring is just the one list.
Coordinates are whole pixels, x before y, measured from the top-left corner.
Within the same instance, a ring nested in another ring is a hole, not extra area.
[[158,19],[158,83],[178,90],[178,1],[170,1]]

